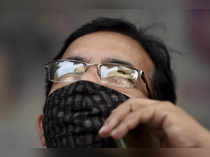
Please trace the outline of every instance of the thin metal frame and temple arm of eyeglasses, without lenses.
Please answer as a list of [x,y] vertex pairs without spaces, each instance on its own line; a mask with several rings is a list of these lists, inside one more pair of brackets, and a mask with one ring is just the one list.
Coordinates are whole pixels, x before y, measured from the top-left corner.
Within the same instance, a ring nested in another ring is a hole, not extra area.
[[[79,61],[79,60],[73,60],[73,59],[58,59],[58,60],[55,60],[55,61],[48,62],[48,63],[45,64],[45,66],[44,66],[45,69],[47,70],[47,73],[48,73],[47,76],[48,76],[48,80],[49,80],[49,81],[51,81],[51,82],[65,82],[65,81],[55,81],[55,80],[49,79],[49,78],[50,78],[50,77],[49,77],[49,70],[48,70],[48,69],[49,69],[49,64],[57,63],[57,62],[62,62],[62,61],[73,61],[73,62],[82,63],[82,64],[85,65],[85,72],[87,72],[87,70],[89,69],[89,67],[91,67],[91,66],[96,66],[96,67],[97,67],[97,74],[98,74],[98,76],[100,77],[100,79],[101,79],[101,75],[100,75],[99,71],[100,71],[100,66],[102,66],[102,65],[120,65],[120,66],[124,66],[124,67],[130,68],[130,69],[136,70],[136,71],[138,72],[138,76],[137,76],[137,79],[135,79],[135,81],[138,80],[139,74],[140,74],[141,79],[142,79],[143,82],[145,83],[146,90],[147,90],[147,92],[148,92],[148,97],[149,97],[149,98],[152,98],[152,93],[151,93],[151,90],[150,90],[150,88],[149,88],[149,84],[148,84],[148,82],[147,82],[147,80],[146,80],[144,71],[143,71],[143,70],[139,70],[139,69],[137,69],[137,68],[135,68],[135,67],[132,67],[132,66],[122,65],[122,64],[118,64],[118,63],[90,64],[90,63],[86,63],[86,62]],[[68,81],[67,81],[67,82],[68,82]]]

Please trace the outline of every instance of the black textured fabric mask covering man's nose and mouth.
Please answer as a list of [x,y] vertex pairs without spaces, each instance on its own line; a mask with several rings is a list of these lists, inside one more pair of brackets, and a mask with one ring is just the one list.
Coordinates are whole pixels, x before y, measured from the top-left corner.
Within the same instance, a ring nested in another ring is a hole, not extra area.
[[110,148],[111,138],[99,129],[111,111],[129,97],[89,81],[57,89],[44,106],[43,129],[48,148]]

